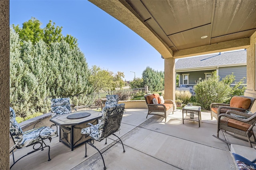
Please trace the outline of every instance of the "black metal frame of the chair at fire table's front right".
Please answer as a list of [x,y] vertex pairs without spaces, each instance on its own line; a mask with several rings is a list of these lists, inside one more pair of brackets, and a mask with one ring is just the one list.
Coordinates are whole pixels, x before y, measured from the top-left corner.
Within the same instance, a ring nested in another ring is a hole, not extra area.
[[[117,108],[117,109],[118,109],[118,108]],[[116,113],[116,114],[114,114],[114,115],[108,116],[107,121],[104,123],[104,128],[103,128],[103,132],[102,132],[102,133],[103,133],[103,135],[102,135],[102,140],[103,140],[104,138],[106,138],[105,144],[107,144],[107,138],[108,138],[108,136],[110,136],[110,135],[116,136],[116,134],[114,134],[114,133],[117,132],[117,131],[119,130],[119,128],[120,128],[123,113],[124,113],[124,111],[121,111],[121,112],[118,112],[118,113]],[[108,132],[108,131],[107,131],[107,130],[108,130],[108,122],[111,121],[111,120],[118,120],[118,127],[116,126],[116,128],[115,128],[114,130]],[[96,129],[98,129],[98,127],[92,125],[91,123],[88,123],[87,125],[90,125],[90,126],[96,128]],[[86,137],[87,137],[87,136],[86,136]],[[123,146],[123,149],[124,149],[124,144],[123,144],[122,140],[121,140],[118,136],[116,136],[116,137],[117,137],[119,140],[118,140],[118,141],[115,140],[115,143],[112,144],[109,148],[111,148],[112,146],[114,146],[116,143],[121,142],[121,143],[122,143],[122,146]],[[98,140],[97,140],[97,141],[98,141]],[[101,140],[100,140],[100,141],[101,141]],[[99,142],[100,142],[100,141],[99,141]],[[84,157],[87,157],[87,147],[86,147],[86,144],[89,144],[90,146],[92,146],[93,148],[95,148],[95,149],[100,153],[100,156],[101,156],[101,158],[102,158],[102,160],[103,160],[103,164],[104,164],[104,170],[106,170],[106,165],[105,165],[104,158],[103,158],[102,154],[103,154],[106,150],[108,150],[109,148],[107,148],[107,149],[104,150],[103,152],[100,152],[100,150],[98,150],[98,148],[96,148],[96,146],[93,145],[93,144],[94,144],[94,139],[91,138],[89,141],[87,141],[87,142],[85,143],[85,156],[84,156]],[[125,150],[123,150],[123,152],[125,152]]]

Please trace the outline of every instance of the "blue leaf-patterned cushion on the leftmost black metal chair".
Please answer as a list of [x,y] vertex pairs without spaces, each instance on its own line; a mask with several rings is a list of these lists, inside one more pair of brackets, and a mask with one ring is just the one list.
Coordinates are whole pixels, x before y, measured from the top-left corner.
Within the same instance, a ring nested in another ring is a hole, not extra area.
[[22,132],[22,129],[15,117],[15,112],[10,107],[10,135],[14,140],[14,147],[16,148],[23,148],[56,135],[56,130],[53,130],[50,127],[34,128],[32,130]]

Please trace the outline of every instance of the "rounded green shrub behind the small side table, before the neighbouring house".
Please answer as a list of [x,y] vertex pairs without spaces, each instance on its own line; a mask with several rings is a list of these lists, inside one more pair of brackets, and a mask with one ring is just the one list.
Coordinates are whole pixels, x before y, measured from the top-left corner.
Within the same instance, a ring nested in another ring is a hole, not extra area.
[[232,88],[219,80],[219,77],[212,76],[194,86],[196,102],[203,109],[210,110],[211,103],[224,103],[230,99]]

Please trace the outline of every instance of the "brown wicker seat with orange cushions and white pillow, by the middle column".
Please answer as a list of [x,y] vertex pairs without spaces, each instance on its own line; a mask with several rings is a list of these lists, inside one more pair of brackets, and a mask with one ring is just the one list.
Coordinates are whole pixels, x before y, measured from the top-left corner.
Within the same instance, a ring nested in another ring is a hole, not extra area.
[[[159,94],[145,95],[146,104],[148,105],[148,115],[158,115],[165,118],[174,111],[173,101],[172,100],[164,100],[164,104],[153,104],[152,96],[155,99],[159,97]],[[158,100],[158,99],[157,99]],[[148,115],[146,118],[148,118]]]

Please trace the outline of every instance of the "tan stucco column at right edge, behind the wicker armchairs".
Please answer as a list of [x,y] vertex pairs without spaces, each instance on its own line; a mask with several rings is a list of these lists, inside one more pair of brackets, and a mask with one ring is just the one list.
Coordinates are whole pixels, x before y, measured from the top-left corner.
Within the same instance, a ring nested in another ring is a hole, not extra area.
[[[245,96],[256,98],[256,32],[250,37],[250,46],[247,48],[247,89],[244,93]],[[256,102],[252,106],[252,112],[256,112]]]

